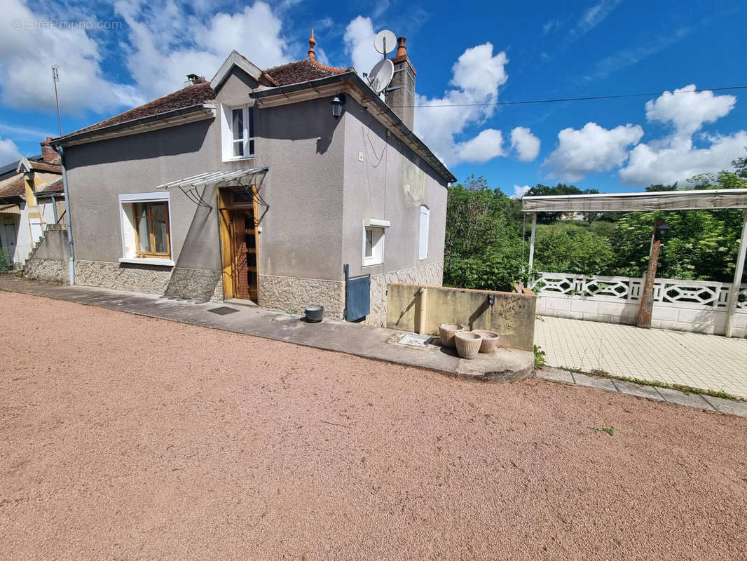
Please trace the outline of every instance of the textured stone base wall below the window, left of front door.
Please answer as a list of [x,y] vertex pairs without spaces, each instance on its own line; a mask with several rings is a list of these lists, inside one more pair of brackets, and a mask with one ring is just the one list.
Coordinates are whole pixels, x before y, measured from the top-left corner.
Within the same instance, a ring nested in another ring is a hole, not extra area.
[[75,283],[176,298],[223,300],[220,272],[202,269],[76,260]]

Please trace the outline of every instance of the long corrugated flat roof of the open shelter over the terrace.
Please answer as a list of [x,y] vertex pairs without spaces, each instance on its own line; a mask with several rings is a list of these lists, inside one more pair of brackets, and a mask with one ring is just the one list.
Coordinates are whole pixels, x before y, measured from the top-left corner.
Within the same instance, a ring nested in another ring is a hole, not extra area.
[[747,189],[560,194],[524,197],[524,212],[630,212],[648,210],[743,209]]

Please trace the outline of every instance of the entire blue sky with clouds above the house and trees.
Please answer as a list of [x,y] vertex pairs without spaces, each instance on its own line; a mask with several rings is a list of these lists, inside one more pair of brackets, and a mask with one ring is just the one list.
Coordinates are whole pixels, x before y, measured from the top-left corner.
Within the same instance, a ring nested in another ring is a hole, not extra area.
[[508,194],[559,181],[637,191],[745,153],[747,89],[454,105],[747,85],[743,4],[6,0],[0,164],[56,135],[51,64],[70,132],[181,88],[187,73],[210,79],[233,48],[262,67],[303,58],[312,25],[323,61],[365,72],[373,33],[390,28],[418,71],[416,132],[460,180],[484,175]]

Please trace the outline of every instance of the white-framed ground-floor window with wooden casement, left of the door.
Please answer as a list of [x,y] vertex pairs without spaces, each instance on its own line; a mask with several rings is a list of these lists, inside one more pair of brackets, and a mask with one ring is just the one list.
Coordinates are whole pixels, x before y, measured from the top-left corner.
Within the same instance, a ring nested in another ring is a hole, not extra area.
[[120,194],[120,263],[173,266],[169,191]]

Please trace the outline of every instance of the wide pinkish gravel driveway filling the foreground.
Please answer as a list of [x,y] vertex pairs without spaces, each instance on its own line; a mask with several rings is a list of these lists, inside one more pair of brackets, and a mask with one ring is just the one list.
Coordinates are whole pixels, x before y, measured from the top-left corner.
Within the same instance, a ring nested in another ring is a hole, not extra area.
[[742,418],[8,292],[0,313],[4,560],[747,551]]

